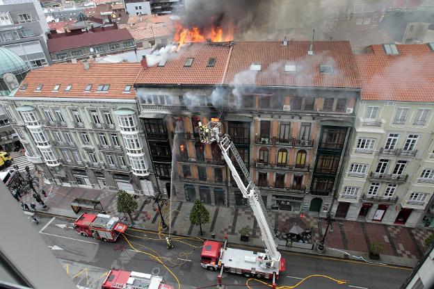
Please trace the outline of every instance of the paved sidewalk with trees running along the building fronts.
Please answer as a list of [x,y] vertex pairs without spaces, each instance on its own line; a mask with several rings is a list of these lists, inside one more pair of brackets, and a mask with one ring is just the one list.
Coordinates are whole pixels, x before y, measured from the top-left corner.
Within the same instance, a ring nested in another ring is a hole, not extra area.
[[[110,215],[119,215],[116,211],[116,193],[109,190],[90,190],[83,188],[70,188],[46,185],[41,182],[38,192],[45,189],[48,197],[45,203],[49,208],[47,213],[78,217],[70,206],[75,198],[93,199],[101,202],[104,210]],[[26,204],[36,204],[31,194],[22,198]],[[152,203],[147,204],[145,198],[137,199],[139,210],[136,213],[136,227],[158,231],[159,213],[153,210]],[[18,205],[18,204],[17,204]],[[18,205],[19,206],[19,205]],[[203,224],[203,236],[199,235],[199,226],[193,226],[188,220],[193,203],[172,201],[172,233],[184,236],[199,236],[211,238],[211,232],[216,234],[216,240],[224,240],[227,236],[229,242],[243,245],[263,247],[260,239],[260,231],[257,226],[252,210],[248,208],[227,208],[219,206],[207,206],[210,214],[210,222]],[[37,204],[37,209],[41,206]],[[164,219],[169,224],[169,208],[163,208]],[[297,222],[306,228],[312,228],[314,242],[319,243],[325,227],[325,220],[306,215],[300,218],[299,214],[283,211],[268,210],[272,226],[279,231],[285,231],[288,224]],[[250,240],[241,242],[239,230],[247,226],[250,228]],[[332,223],[332,230],[327,234],[325,245],[328,247],[325,256],[338,258],[351,258],[372,261],[368,257],[368,248],[371,242],[377,241],[384,245],[383,254],[380,255],[379,263],[390,265],[402,265],[414,267],[424,254],[424,239],[433,231],[429,229],[411,229],[404,226],[388,226],[384,224],[336,221]],[[279,246],[281,250],[296,251],[307,254],[318,254],[316,250],[299,249],[294,247]],[[349,255],[349,256],[348,256]],[[375,261],[373,261],[375,262]]]

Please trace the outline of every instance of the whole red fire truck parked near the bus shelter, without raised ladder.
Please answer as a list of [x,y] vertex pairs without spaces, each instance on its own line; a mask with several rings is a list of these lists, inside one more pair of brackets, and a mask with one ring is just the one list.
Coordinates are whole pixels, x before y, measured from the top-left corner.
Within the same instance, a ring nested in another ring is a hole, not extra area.
[[128,226],[119,222],[118,217],[104,214],[83,213],[74,222],[74,230],[81,236],[93,237],[105,242],[115,242]]

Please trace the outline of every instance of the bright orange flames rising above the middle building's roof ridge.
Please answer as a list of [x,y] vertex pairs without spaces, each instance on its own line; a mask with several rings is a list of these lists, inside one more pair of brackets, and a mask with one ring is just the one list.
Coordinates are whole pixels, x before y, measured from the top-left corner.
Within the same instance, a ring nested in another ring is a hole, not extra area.
[[179,47],[186,42],[227,42],[234,40],[235,28],[229,25],[225,31],[220,26],[210,25],[209,28],[200,29],[197,26],[186,28],[179,22],[175,23],[175,35],[173,41],[179,43]]

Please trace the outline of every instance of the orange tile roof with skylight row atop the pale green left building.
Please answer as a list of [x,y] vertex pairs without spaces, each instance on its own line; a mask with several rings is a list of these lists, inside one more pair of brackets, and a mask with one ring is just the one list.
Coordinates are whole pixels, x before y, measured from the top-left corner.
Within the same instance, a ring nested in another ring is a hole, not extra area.
[[[122,93],[125,85],[133,85],[140,72],[140,63],[99,64],[90,63],[88,70],[83,63],[58,63],[49,67],[36,69],[26,75],[15,97],[70,97],[86,99],[134,99],[136,94]],[[43,84],[40,92],[35,88]],[[58,92],[52,92],[54,86],[60,84]],[[65,92],[68,84],[72,84],[69,92]],[[86,85],[92,84],[90,92],[84,92]],[[109,84],[108,92],[96,92],[98,85]],[[20,90],[28,85],[26,90]]]

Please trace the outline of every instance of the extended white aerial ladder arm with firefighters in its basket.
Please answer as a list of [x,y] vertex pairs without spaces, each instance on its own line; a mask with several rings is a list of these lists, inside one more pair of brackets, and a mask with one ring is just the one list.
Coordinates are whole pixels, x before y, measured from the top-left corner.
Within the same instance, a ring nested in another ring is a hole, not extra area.
[[[275,272],[279,272],[281,255],[278,251],[275,234],[271,229],[270,219],[266,213],[264,202],[262,201],[261,192],[259,192],[259,189],[252,181],[248,169],[244,164],[244,161],[241,158],[238,150],[236,149],[234,142],[230,140],[229,135],[221,132],[220,127],[220,122],[215,121],[208,122],[204,125],[199,123],[198,132],[200,135],[200,141],[206,144],[216,142],[218,147],[220,147],[223,158],[225,158],[227,167],[229,167],[232,174],[232,178],[236,182],[239,190],[241,190],[243,198],[248,200],[248,204],[250,205],[250,208],[252,208],[253,214],[256,217],[259,229],[261,229],[262,241],[264,242],[265,247],[265,258],[262,258],[262,261],[260,261],[261,267],[267,267],[271,269],[274,268]],[[234,160],[241,169],[247,185],[243,183],[239,172],[236,170],[236,167],[230,158],[230,152],[232,153],[232,156],[234,156]]]

